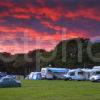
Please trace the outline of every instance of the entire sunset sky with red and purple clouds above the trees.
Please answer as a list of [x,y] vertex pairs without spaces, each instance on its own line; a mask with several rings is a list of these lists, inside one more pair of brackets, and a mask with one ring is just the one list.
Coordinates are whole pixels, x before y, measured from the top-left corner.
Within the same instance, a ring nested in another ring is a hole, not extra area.
[[100,0],[0,0],[0,52],[53,49],[100,35]]

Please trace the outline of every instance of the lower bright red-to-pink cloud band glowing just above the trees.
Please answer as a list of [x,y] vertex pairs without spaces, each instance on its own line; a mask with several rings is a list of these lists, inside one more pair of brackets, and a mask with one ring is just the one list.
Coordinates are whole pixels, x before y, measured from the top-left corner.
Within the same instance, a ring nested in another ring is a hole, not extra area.
[[[20,53],[20,52],[28,52],[29,50],[33,50],[36,48],[43,48],[46,50],[51,50],[53,49],[56,44],[65,39],[69,38],[78,38],[78,37],[88,37],[88,35],[84,32],[82,33],[75,33],[71,32],[69,30],[65,31],[65,33],[61,34],[59,32],[55,34],[48,34],[48,33],[39,33],[35,31],[34,29],[31,28],[23,28],[23,27],[16,27],[15,29],[9,28],[9,27],[1,27],[0,26],[1,32],[6,32],[8,35],[2,35],[0,34],[1,37],[1,42],[0,42],[0,50],[1,51],[7,51],[7,52],[12,52],[12,53]],[[28,44],[27,41],[25,40],[25,44],[21,45],[16,41],[16,37],[19,37],[19,32],[23,33],[25,37],[27,37],[30,40],[36,41],[35,44]],[[68,33],[69,32],[69,33]],[[16,34],[15,34],[16,33]],[[13,44],[2,44],[2,41],[5,40],[12,40],[14,42]]]

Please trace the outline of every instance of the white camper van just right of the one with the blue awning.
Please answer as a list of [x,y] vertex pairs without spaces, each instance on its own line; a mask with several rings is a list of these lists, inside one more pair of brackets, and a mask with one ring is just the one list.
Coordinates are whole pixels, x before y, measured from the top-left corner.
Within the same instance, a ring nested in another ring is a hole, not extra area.
[[70,70],[64,75],[65,80],[86,80],[86,73],[82,69]]

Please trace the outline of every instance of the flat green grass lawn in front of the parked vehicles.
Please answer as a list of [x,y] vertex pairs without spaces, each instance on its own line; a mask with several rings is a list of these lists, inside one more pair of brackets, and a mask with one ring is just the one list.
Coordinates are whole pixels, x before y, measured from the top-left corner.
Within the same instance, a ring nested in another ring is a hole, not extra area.
[[24,80],[21,88],[0,88],[0,100],[100,100],[100,83]]

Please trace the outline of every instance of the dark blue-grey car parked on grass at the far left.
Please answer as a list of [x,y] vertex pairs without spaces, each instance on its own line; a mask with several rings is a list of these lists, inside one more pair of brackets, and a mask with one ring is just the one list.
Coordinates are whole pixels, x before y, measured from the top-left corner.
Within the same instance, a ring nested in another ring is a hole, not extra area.
[[0,79],[0,87],[21,87],[21,82],[5,76]]

